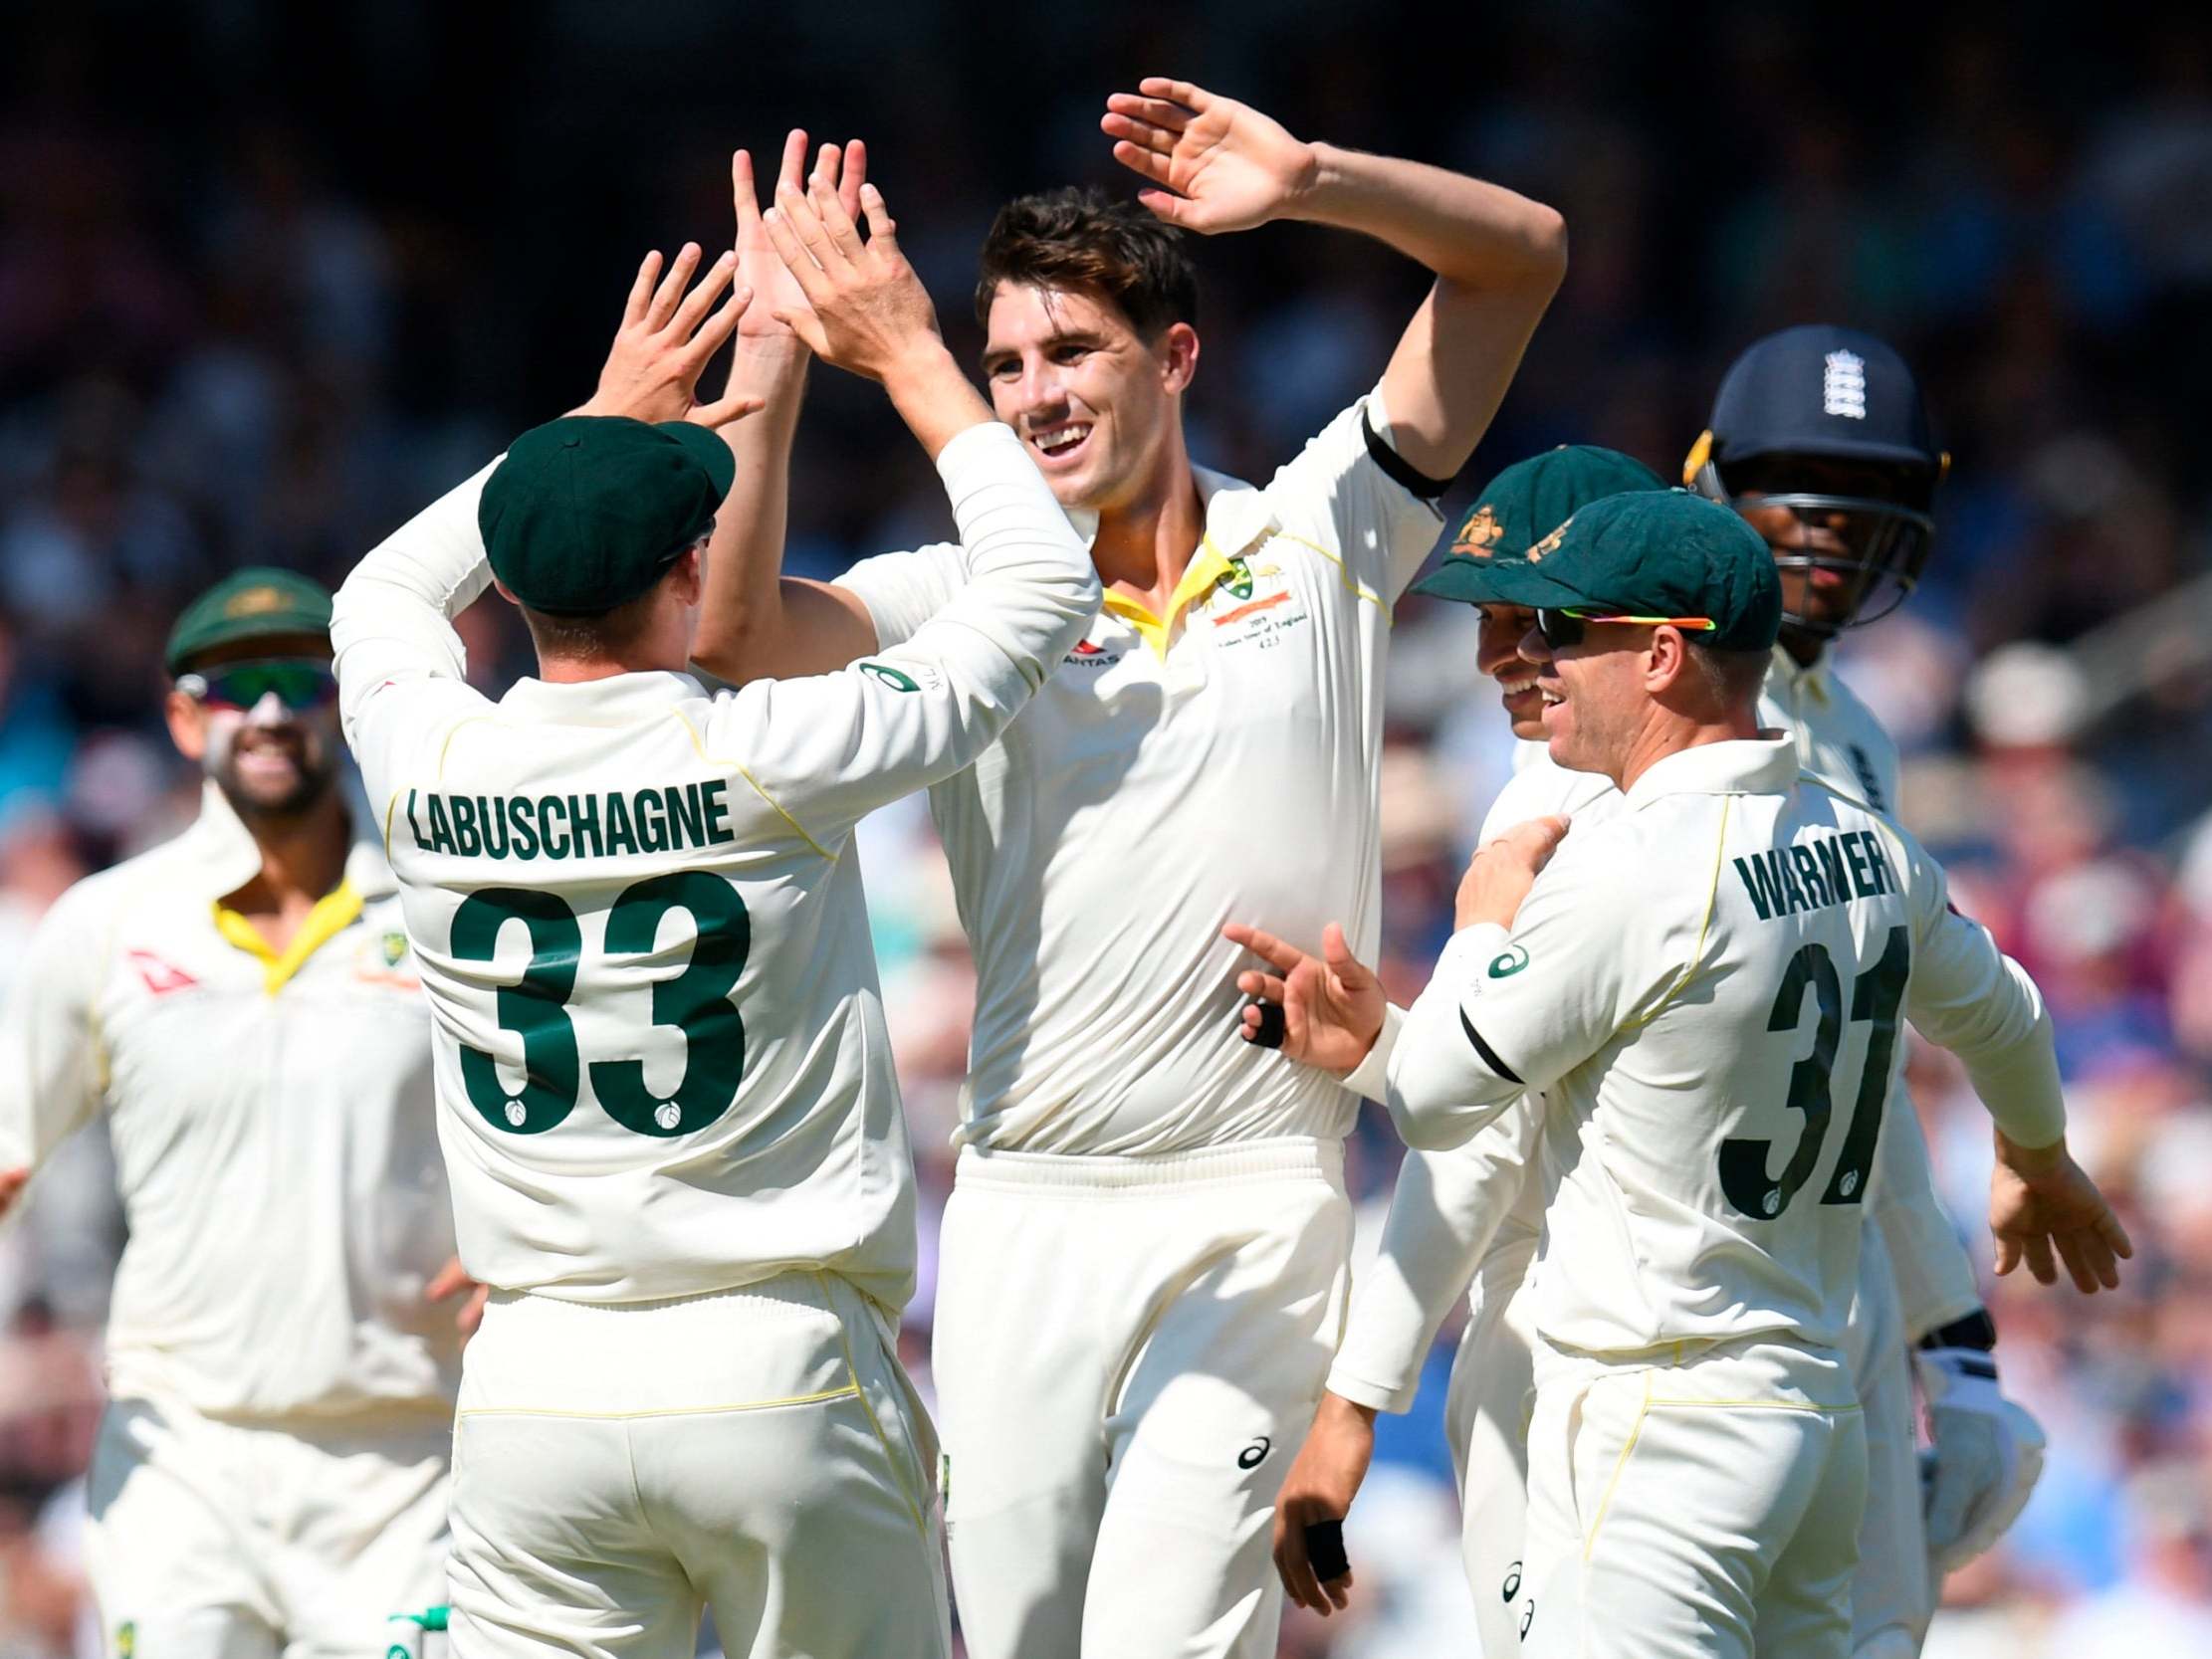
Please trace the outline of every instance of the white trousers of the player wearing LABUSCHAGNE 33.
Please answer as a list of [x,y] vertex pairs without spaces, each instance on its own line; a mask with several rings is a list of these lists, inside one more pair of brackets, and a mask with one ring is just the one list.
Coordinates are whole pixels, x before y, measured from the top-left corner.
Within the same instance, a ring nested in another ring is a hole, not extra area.
[[[836,1274],[493,1296],[453,1427],[453,1659],[945,1659],[929,1420]],[[153,1655],[148,1655],[153,1659]]]

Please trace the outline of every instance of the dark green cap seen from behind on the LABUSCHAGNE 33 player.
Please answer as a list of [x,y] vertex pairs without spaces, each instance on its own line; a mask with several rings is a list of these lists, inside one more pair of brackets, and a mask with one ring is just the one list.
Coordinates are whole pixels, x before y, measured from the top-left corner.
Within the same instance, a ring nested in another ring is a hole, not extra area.
[[730,447],[688,420],[562,416],[515,438],[476,524],[522,604],[595,617],[659,582],[714,526],[734,478]]

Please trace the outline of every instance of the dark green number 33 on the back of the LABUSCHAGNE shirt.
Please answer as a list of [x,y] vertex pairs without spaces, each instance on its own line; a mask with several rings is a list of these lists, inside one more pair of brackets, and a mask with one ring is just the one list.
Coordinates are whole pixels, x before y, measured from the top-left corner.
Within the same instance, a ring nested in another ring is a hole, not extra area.
[[[672,909],[690,911],[699,940],[690,964],[653,987],[653,1024],[684,1033],[684,1082],[661,1097],[646,1088],[644,1060],[591,1062],[591,1093],[606,1115],[639,1135],[659,1137],[688,1135],[730,1110],[745,1071],[745,1022],[730,1002],[730,989],[745,971],[752,918],[730,883],[681,869],[626,887],[606,911],[606,951],[644,956]],[[489,962],[507,922],[522,922],[531,933],[522,980],[502,984],[498,993],[500,1026],[522,1037],[522,1093],[509,1095],[498,1062],[467,1044],[460,1048],[460,1077],[469,1086],[469,1104],[487,1124],[513,1135],[540,1135],[575,1110],[582,1084],[568,998],[584,956],[584,929],[553,894],[487,887],[453,911],[453,956]]]

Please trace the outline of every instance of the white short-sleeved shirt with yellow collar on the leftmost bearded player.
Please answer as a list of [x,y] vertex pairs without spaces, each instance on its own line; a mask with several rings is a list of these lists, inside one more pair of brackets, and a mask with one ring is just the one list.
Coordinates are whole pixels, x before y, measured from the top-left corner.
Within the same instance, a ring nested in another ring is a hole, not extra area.
[[108,1391],[263,1422],[451,1409],[460,1336],[429,1018],[374,841],[272,953],[221,900],[261,849],[221,790],[46,911],[0,1018],[0,1168],[108,1117],[131,1241]]

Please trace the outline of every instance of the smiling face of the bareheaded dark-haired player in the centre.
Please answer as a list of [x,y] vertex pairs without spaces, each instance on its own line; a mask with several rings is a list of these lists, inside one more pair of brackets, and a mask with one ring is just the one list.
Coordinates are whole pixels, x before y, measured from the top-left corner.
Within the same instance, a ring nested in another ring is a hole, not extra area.
[[1146,341],[1093,294],[1000,283],[984,334],[991,407],[1062,507],[1110,513],[1164,491],[1199,363],[1188,323]]

